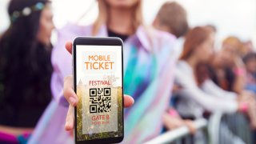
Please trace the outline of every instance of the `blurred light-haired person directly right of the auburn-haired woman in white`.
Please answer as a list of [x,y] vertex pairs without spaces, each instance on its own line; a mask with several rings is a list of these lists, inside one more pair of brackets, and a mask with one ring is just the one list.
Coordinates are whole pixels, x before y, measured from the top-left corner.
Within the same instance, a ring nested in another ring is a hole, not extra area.
[[242,62],[244,55],[242,41],[237,37],[228,37],[222,42],[222,49],[214,58],[213,81],[222,89],[242,94],[246,82],[246,68]]

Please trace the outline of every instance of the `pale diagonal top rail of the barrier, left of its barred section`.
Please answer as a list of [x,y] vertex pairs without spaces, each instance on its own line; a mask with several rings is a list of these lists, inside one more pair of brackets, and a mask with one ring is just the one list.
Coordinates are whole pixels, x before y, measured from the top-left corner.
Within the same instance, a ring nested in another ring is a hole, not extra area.
[[[203,130],[207,128],[207,120],[202,118],[198,119],[194,122],[195,128],[197,130]],[[182,126],[176,130],[170,130],[166,132],[165,134],[162,134],[158,136],[157,138],[154,138],[150,140],[149,142],[146,142],[147,144],[155,144],[155,143],[171,143],[171,142],[180,142],[182,138],[185,138],[186,142],[186,136],[190,135],[190,130],[186,126]],[[188,142],[190,143],[190,142]]]

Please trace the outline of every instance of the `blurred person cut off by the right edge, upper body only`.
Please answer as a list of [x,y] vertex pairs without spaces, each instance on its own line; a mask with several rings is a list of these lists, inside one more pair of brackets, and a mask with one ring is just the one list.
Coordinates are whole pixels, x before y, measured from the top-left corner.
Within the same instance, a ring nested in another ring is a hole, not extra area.
[[243,58],[246,65],[246,90],[256,94],[256,53],[251,52]]

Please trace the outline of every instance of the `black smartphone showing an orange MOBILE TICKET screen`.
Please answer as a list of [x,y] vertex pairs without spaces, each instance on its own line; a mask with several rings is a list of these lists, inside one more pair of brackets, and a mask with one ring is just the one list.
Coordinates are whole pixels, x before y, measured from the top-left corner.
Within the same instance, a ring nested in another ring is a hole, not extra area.
[[122,142],[122,47],[120,38],[74,39],[75,143]]

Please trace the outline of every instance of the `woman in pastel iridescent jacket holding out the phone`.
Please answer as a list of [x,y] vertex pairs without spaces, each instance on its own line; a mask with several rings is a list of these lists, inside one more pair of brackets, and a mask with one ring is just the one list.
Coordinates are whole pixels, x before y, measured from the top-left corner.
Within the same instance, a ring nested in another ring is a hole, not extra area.
[[[68,104],[62,94],[64,78],[72,74],[71,54],[63,49],[66,42],[79,35],[122,38],[125,42],[124,93],[132,95],[136,101],[125,113],[124,142],[145,142],[161,131],[162,114],[168,106],[173,83],[175,60],[172,45],[175,38],[143,24],[141,0],[100,0],[98,6],[98,19],[93,25],[68,25],[59,31],[58,44],[52,55],[54,74],[51,88],[54,98],[62,105]],[[70,43],[67,43],[66,48],[70,50]],[[70,82],[68,79],[72,78],[66,78],[66,83]],[[72,87],[65,90],[71,91],[64,91],[67,101],[72,104],[66,122],[64,119],[67,107],[65,114],[62,114],[62,124],[66,123],[66,130],[72,130],[74,127],[71,109],[77,103],[77,96],[70,88]],[[54,129],[50,126],[48,128]],[[47,138],[54,139],[50,135],[53,134],[49,134]]]

